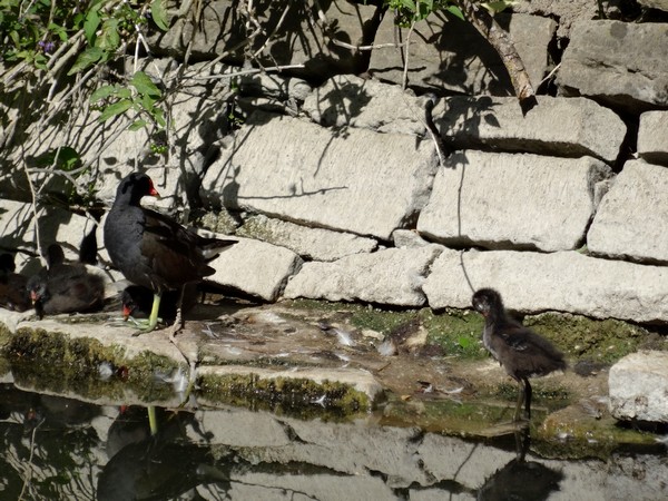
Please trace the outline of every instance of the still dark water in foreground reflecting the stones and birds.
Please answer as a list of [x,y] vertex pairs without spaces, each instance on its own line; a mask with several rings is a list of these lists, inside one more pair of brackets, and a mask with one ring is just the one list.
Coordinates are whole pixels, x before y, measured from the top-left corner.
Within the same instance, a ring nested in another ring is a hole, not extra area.
[[353,420],[149,412],[4,381],[0,500],[668,499],[660,443],[566,461],[537,454],[523,432],[462,440],[389,425],[382,410]]

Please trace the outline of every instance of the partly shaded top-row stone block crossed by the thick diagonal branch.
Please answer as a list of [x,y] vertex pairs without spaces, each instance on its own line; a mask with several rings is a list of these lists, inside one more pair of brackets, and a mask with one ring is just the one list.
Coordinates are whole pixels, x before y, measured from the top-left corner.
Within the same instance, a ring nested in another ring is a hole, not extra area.
[[[512,38],[533,85],[548,67],[548,45],[557,23],[527,14],[498,14],[497,22]],[[392,16],[385,16],[374,43],[395,43]],[[405,42],[405,29],[399,41]],[[402,84],[404,59],[400,48],[373,50],[370,72],[377,79]],[[409,49],[409,85],[413,88],[450,90],[468,95],[513,95],[508,71],[489,42],[468,21],[432,14],[415,23]]]

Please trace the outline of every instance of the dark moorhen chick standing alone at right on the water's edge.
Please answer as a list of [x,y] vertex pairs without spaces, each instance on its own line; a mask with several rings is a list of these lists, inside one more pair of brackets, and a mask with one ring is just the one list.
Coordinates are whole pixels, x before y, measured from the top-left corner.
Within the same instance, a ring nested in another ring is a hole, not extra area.
[[529,377],[543,376],[566,370],[563,354],[552,343],[508,316],[501,295],[492,288],[473,294],[473,308],[484,316],[482,342],[484,347],[520,384],[514,421],[520,420],[522,396],[524,419],[531,418],[531,384]]

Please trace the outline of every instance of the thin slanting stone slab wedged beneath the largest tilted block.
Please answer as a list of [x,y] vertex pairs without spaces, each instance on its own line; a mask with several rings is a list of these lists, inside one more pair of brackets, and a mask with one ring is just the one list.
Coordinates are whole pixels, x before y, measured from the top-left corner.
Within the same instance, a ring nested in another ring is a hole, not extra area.
[[287,247],[312,261],[336,261],[350,254],[371,253],[377,247],[377,242],[373,238],[364,238],[352,233],[308,228],[259,214],[246,218],[236,235]]

